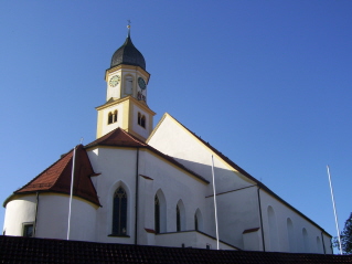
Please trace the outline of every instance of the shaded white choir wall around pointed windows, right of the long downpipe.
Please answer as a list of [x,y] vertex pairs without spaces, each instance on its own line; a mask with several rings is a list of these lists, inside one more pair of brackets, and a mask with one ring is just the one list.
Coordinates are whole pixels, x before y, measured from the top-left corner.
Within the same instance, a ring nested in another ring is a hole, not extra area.
[[148,188],[140,190],[140,197],[145,198],[145,228],[154,229],[154,196],[158,191],[162,191],[167,204],[164,232],[177,231],[175,209],[180,200],[184,204],[185,213],[183,228],[184,230],[194,230],[196,210],[199,209],[202,213],[205,213],[206,210],[204,197],[207,184],[149,151],[141,151],[140,157],[143,160],[140,173],[152,179],[146,183]]

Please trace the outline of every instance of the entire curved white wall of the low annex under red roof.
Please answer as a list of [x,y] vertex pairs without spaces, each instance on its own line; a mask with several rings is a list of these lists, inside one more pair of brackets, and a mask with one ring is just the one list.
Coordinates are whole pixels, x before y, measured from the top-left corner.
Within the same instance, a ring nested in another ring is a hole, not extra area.
[[[70,197],[40,193],[35,237],[66,239]],[[74,198],[72,202],[71,240],[95,240],[96,205]],[[7,205],[4,228],[7,235],[22,235],[22,224],[34,222],[35,196],[23,196]]]

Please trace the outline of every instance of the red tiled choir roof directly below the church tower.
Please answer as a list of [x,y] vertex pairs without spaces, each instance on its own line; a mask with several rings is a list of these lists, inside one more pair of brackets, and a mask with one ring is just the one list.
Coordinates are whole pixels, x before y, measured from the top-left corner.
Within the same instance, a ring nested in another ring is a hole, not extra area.
[[190,170],[182,163],[178,162],[172,157],[160,152],[158,149],[149,146],[148,144],[141,141],[137,137],[130,135],[129,133],[125,131],[121,128],[116,128],[113,131],[106,134],[105,136],[94,140],[93,142],[85,146],[85,148],[90,148],[95,146],[110,146],[110,147],[132,147],[132,148],[146,148],[150,151],[154,152],[156,155],[162,157],[163,159],[170,161],[171,163],[178,166],[179,168],[188,171],[189,173],[193,175],[194,177],[199,178],[200,180],[209,183],[202,176],[195,173],[194,171]]

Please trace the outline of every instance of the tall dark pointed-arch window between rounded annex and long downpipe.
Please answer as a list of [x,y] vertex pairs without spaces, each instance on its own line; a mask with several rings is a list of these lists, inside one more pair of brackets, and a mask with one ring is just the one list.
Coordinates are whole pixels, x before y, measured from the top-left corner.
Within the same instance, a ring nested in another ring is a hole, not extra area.
[[127,194],[122,187],[114,193],[113,234],[127,235]]

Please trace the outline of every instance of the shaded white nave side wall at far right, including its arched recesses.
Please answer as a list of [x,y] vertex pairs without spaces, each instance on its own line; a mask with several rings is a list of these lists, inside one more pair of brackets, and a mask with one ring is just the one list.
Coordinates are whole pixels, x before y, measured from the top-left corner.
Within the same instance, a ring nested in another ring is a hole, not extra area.
[[324,240],[326,252],[332,253],[329,236],[322,239],[312,222],[263,190],[260,203],[266,251],[323,253]]

